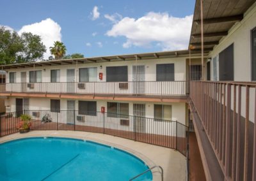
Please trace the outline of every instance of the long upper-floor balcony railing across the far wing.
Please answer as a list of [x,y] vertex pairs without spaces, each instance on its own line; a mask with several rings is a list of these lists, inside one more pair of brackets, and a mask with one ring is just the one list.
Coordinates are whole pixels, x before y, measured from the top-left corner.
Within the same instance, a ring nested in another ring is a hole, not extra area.
[[0,85],[0,92],[172,96],[188,94],[187,83],[186,81],[4,83]]

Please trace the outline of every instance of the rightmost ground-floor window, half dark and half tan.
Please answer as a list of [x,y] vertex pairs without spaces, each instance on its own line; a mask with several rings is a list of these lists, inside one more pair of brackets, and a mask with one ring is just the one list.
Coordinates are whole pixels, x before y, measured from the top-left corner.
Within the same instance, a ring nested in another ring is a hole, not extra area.
[[171,105],[154,105],[154,119],[172,120]]

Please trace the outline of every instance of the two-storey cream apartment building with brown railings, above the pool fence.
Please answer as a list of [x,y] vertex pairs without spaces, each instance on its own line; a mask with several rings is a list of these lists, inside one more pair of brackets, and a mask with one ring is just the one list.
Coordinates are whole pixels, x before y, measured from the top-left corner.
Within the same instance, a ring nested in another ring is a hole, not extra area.
[[189,50],[2,66],[6,112],[77,110],[63,120],[76,124],[95,112],[186,126],[190,118],[207,180],[255,180],[256,3],[205,0],[202,9],[204,25],[196,0]]

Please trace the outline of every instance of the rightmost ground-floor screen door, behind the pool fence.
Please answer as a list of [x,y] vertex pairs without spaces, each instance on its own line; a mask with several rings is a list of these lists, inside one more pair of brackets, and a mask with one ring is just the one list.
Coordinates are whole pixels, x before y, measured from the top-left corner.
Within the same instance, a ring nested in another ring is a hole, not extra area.
[[145,105],[144,104],[133,104],[133,115],[134,115],[134,131],[136,133],[145,133]]

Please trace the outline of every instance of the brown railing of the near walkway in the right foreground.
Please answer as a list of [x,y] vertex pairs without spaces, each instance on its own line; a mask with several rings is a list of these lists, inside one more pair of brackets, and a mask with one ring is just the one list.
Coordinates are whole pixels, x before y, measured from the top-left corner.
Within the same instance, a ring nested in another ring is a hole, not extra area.
[[256,83],[192,81],[189,88],[225,180],[256,180]]

